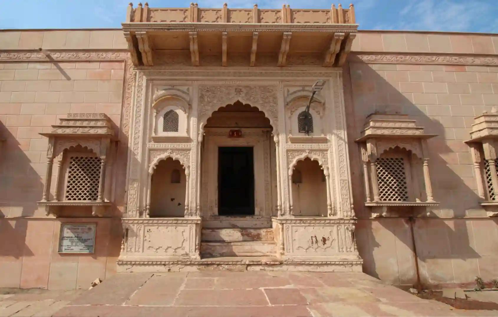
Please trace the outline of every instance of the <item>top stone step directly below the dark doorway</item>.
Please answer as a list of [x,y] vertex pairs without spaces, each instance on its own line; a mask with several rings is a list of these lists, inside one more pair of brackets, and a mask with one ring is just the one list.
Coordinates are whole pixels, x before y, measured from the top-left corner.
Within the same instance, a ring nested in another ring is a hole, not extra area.
[[202,220],[202,228],[271,228],[271,218],[261,216],[209,217]]

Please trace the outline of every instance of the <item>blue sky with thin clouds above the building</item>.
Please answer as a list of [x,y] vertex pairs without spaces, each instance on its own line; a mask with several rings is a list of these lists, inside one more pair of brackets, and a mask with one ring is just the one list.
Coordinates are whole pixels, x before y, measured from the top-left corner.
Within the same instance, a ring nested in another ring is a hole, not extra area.
[[[129,0],[0,0],[0,28],[119,28]],[[151,7],[187,7],[188,0],[149,0]],[[249,8],[253,0],[227,1]],[[138,3],[135,0],[134,6]],[[200,7],[223,1],[202,0]],[[259,8],[330,8],[324,0],[264,0]],[[361,29],[498,33],[498,0],[353,0]],[[335,3],[336,5],[338,2]],[[349,6],[349,2],[344,2]],[[21,15],[19,11],[23,12]],[[21,18],[22,16],[22,18]]]

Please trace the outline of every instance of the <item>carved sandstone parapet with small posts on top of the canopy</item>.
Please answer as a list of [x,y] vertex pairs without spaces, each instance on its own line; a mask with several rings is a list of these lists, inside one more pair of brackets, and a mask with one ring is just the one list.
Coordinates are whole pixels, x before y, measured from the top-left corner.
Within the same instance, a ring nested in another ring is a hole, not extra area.
[[259,9],[254,4],[252,9],[231,9],[227,3],[222,8],[200,8],[197,3],[190,3],[188,8],[151,8],[148,3],[128,5],[126,22],[200,22],[200,23],[334,23],[355,24],[355,8],[338,7],[332,4],[330,9],[291,9],[282,5],[281,9]]

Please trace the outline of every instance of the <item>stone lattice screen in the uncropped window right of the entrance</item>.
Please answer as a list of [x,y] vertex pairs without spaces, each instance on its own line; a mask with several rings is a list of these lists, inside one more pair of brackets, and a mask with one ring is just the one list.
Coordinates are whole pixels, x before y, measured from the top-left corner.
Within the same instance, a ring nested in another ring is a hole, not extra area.
[[407,201],[408,189],[403,158],[378,158],[376,165],[380,200]]

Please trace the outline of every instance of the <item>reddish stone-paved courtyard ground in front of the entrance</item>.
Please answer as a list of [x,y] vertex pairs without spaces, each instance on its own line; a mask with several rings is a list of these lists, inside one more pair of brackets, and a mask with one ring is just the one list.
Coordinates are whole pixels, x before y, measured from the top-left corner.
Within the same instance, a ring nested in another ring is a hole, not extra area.
[[363,273],[125,273],[86,292],[1,296],[0,316],[498,315],[419,299]]

